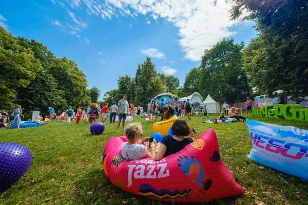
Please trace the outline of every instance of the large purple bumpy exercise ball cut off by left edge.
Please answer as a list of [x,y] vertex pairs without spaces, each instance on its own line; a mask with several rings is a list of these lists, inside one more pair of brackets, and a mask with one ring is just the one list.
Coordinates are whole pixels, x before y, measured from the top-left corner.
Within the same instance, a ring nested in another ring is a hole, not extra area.
[[8,189],[29,169],[32,155],[28,148],[12,142],[0,143],[0,190]]

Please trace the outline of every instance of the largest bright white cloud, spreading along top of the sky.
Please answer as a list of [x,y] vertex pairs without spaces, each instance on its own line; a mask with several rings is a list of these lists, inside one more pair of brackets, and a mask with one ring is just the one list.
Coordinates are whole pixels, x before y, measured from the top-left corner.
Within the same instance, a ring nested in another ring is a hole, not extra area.
[[[72,0],[69,4],[89,14],[100,14],[98,16],[106,20],[112,16],[137,17],[138,14],[149,14],[154,20],[163,18],[165,22],[172,23],[178,28],[180,37],[178,43],[184,52],[184,57],[198,61],[205,49],[210,49],[219,40],[236,34],[232,28],[241,20],[230,20],[229,10],[233,2],[233,0]],[[78,20],[79,18],[72,12],[69,14],[80,27],[87,27],[87,24]]]

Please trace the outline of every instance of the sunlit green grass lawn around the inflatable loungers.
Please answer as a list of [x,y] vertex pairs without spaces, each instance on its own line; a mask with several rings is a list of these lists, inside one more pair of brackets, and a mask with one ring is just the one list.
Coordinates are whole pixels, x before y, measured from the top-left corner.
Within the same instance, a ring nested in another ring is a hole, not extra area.
[[[217,115],[211,114],[210,117]],[[244,115],[245,116],[245,115]],[[308,129],[307,122],[247,116],[249,119]],[[143,136],[152,134],[152,123],[143,118]],[[307,181],[263,167],[248,159],[252,149],[246,123],[203,124],[202,117],[188,121],[197,136],[214,128],[222,159],[239,180],[245,193],[208,204],[307,204]],[[50,122],[39,128],[0,130],[0,141],[17,142],[32,152],[28,172],[14,185],[0,192],[0,204],[167,204],[124,192],[112,185],[102,168],[102,154],[116,124],[106,124],[102,135],[91,135],[87,123],[72,126]],[[200,204],[204,204],[200,203]]]

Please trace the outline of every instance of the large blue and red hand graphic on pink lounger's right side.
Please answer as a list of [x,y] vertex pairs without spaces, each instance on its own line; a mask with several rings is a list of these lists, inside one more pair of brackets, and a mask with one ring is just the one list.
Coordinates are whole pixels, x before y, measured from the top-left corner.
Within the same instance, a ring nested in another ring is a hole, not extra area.
[[210,188],[213,182],[205,175],[203,167],[198,159],[194,156],[189,158],[183,154],[182,156],[179,156],[178,161],[180,162],[178,163],[178,166],[191,182],[197,183],[200,187],[202,186],[205,191]]

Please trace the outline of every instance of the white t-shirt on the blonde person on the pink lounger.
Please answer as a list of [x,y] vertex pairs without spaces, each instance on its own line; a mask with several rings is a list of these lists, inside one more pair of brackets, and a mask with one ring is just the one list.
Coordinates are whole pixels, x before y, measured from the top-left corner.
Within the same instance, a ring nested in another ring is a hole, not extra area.
[[124,142],[122,145],[122,156],[125,160],[132,161],[137,159],[143,159],[146,155],[147,148],[144,145],[127,145]]

